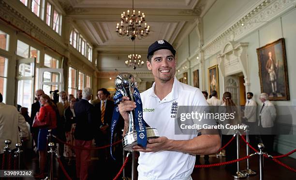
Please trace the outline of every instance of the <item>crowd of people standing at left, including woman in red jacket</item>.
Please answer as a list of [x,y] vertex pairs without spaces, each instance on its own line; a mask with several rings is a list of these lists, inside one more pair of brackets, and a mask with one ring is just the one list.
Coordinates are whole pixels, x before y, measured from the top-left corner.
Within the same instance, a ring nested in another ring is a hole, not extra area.
[[[90,101],[91,88],[78,90],[76,98],[71,94],[67,96],[65,91],[61,91],[59,92],[60,102],[57,103],[44,94],[42,89],[36,90],[35,97],[36,102],[32,104],[31,116],[29,116],[28,108],[20,107],[18,112],[14,106],[4,104],[0,94],[0,141],[2,142],[0,143],[0,154],[3,153],[5,139],[12,140],[12,149],[15,149],[15,144],[21,142],[21,139],[25,142],[24,144],[30,143],[28,148],[38,152],[39,156],[39,169],[34,169],[34,172],[38,172],[34,175],[36,179],[43,179],[46,175],[49,129],[54,136],[73,146],[90,148],[93,145],[98,147],[110,143],[110,125],[115,105],[112,100],[109,100],[110,93],[105,88],[97,91],[97,99],[93,101]],[[34,126],[34,121],[46,121],[46,118],[50,121],[49,125],[46,127]],[[11,128],[14,131],[8,131]],[[118,125],[115,138],[121,139],[121,135],[122,131]],[[28,139],[31,141],[29,142]],[[64,143],[55,142],[59,156],[65,159],[68,165],[73,165],[75,162],[77,178],[86,180],[90,151],[75,149],[64,145]],[[121,161],[122,149],[118,146],[115,148],[119,148],[114,154],[118,157],[118,161]],[[111,162],[108,148],[98,150],[97,154],[102,166]]]

